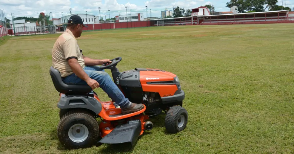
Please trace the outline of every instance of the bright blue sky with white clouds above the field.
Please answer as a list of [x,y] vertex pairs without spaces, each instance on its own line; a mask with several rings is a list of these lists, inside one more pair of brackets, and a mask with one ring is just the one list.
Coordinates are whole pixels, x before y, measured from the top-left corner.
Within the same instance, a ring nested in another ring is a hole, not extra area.
[[[53,18],[60,18],[70,14],[69,8],[72,8],[72,13],[87,13],[99,16],[98,7],[101,7],[101,17],[110,14],[110,17],[115,17],[120,14],[144,13],[146,17],[146,7],[148,6],[148,17],[161,17],[161,10],[173,10],[174,7],[184,9],[197,8],[205,4],[213,4],[216,12],[230,11],[226,7],[229,0],[0,0],[0,9],[4,10],[6,18],[11,20],[11,13],[14,18],[19,16],[37,17],[40,12],[50,14]],[[293,8],[294,0],[278,0],[278,5]],[[128,9],[125,9],[125,6]],[[108,10],[109,13],[108,13]],[[50,13],[52,12],[52,13]],[[61,13],[63,12],[63,13]]]

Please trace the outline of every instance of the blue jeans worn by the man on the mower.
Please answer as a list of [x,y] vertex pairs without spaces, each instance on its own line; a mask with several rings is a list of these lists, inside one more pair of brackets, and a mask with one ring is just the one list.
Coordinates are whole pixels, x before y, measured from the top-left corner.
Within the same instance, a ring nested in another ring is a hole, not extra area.
[[[104,70],[101,70],[99,66],[85,66],[84,71],[91,79],[96,80],[101,89],[108,94],[108,96],[115,101],[115,103],[121,108],[125,108],[130,104],[130,100],[124,97],[124,94],[112,81],[109,74]],[[76,74],[71,74],[63,78],[65,84],[81,84],[88,85],[84,80],[76,76]]]

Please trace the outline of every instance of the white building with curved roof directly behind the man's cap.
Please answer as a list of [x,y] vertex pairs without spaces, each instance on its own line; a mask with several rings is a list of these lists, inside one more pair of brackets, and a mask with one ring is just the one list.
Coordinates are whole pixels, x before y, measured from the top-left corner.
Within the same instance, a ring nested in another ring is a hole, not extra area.
[[67,16],[62,16],[58,19],[53,19],[53,25],[61,25],[61,24],[67,24],[68,19],[70,19],[71,16],[78,15],[83,20],[84,24],[98,24],[99,23],[99,16],[94,16],[91,14],[72,14]]

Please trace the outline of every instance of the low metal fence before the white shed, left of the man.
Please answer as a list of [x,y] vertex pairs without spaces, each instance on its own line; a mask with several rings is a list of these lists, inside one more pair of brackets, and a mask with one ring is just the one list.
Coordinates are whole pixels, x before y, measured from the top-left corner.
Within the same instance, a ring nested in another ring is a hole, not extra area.
[[56,27],[53,26],[53,25],[47,25],[47,26],[23,26],[23,27],[16,27],[14,29],[15,29],[15,36],[54,34],[54,33],[56,33]]

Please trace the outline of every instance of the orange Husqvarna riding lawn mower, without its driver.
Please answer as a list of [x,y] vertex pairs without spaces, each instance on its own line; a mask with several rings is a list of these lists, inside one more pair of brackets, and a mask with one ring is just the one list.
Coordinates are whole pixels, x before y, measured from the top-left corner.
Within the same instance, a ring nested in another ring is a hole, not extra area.
[[[143,103],[144,109],[121,114],[115,102],[102,102],[90,86],[65,84],[60,72],[51,66],[50,76],[60,93],[57,135],[65,148],[127,142],[134,146],[145,130],[153,128],[148,119],[156,115],[166,115],[164,126],[169,133],[186,128],[188,113],[182,107],[185,93],[175,74],[145,68],[119,72],[116,65],[121,57],[111,61],[110,65],[103,64],[100,69],[110,69],[114,82],[125,97],[133,103]],[[99,124],[96,118],[101,119]]]

